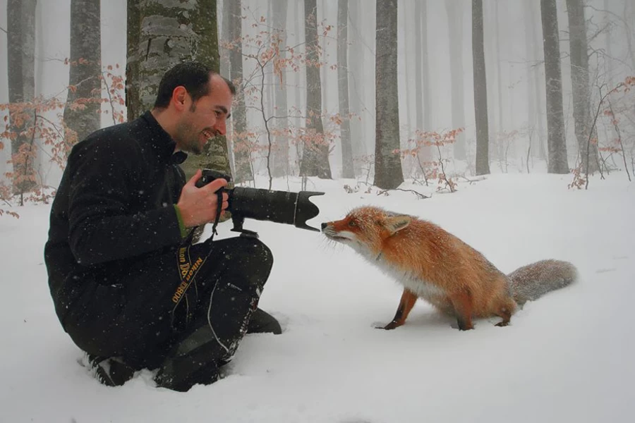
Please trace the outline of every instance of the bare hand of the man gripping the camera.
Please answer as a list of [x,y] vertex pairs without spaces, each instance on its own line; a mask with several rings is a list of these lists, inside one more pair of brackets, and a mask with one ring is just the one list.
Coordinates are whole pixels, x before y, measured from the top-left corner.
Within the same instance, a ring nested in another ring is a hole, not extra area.
[[[217,190],[227,186],[227,181],[219,178],[214,179],[202,188],[196,188],[196,181],[200,179],[202,172],[200,169],[196,171],[194,176],[183,187],[179,202],[176,207],[181,211],[183,224],[186,228],[202,225],[203,223],[213,222],[216,219],[218,209]],[[223,192],[222,210],[226,209],[227,193]]]

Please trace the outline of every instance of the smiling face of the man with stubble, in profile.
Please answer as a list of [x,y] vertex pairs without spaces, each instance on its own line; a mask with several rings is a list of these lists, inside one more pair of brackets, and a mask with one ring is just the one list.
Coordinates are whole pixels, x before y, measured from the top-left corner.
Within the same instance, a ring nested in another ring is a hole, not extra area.
[[176,126],[176,145],[185,152],[200,154],[207,141],[226,134],[226,119],[233,97],[219,75],[212,75],[210,85],[209,94],[195,102],[189,100],[189,107],[183,111]]

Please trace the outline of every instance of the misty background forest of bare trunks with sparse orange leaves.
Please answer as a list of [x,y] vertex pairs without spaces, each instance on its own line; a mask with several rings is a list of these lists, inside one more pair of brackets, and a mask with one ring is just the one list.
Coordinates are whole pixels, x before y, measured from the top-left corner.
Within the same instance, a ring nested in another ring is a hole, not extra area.
[[628,0],[4,3],[6,212],[47,202],[71,147],[149,109],[186,60],[239,88],[228,135],[188,174],[453,192],[488,173],[570,174],[586,188],[589,175],[635,172]]

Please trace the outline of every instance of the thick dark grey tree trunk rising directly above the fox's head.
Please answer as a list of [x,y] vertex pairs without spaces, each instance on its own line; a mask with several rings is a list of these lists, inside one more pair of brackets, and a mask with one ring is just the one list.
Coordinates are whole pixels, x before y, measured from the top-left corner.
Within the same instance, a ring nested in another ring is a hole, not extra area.
[[399,150],[397,0],[377,0],[375,35],[375,182],[394,189],[404,182]]

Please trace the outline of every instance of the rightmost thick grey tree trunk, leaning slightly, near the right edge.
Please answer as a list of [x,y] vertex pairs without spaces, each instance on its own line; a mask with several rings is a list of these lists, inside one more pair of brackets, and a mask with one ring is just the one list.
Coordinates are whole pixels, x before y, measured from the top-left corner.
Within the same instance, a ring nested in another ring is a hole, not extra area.
[[[599,170],[598,144],[588,143],[589,130],[593,126],[591,116],[591,92],[588,75],[588,45],[586,22],[582,0],[567,0],[569,16],[569,51],[571,53],[571,90],[573,91],[574,126],[582,171],[593,173]],[[593,139],[597,140],[597,130],[593,129]],[[589,151],[588,146],[591,147]],[[588,157],[588,163],[587,163]]]

